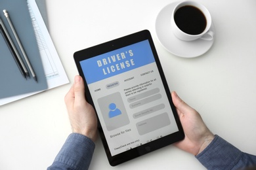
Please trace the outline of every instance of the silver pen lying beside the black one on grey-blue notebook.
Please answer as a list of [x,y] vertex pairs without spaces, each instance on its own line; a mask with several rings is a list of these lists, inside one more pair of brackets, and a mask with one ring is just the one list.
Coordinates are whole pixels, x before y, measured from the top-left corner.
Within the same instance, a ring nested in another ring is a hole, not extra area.
[[[22,54],[23,54],[23,56],[24,56],[24,58],[25,58],[25,60],[26,60],[26,63],[28,64],[28,68],[30,69],[30,72],[31,72],[31,74],[32,74],[32,76],[33,76],[33,79],[37,82],[37,77],[35,76],[35,73],[33,72],[33,68],[32,68],[32,66],[31,66],[31,64],[30,64],[30,60],[28,60],[28,57],[27,57],[27,55],[26,55],[26,52],[24,51],[24,48],[22,47],[22,44],[21,44],[21,42],[20,42],[20,39],[18,38],[18,35],[17,35],[17,33],[16,33],[16,31],[15,31],[13,25],[12,25],[12,22],[11,22],[11,20],[10,20],[10,18],[9,18],[9,14],[7,13],[7,10],[3,10],[3,13],[5,14],[5,16],[6,16],[6,18],[7,18],[7,21],[8,21],[8,23],[9,23],[11,29],[12,29],[12,33],[14,34],[14,37],[15,37],[16,41],[18,42],[18,46],[20,47],[20,50],[22,51]],[[27,71],[27,72],[28,72],[28,71]]]

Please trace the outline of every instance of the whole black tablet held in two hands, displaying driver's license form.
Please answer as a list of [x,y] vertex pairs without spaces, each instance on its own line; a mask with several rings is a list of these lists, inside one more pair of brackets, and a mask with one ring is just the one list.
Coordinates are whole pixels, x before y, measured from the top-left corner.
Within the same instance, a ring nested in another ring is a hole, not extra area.
[[110,165],[184,139],[148,30],[80,50],[74,59]]

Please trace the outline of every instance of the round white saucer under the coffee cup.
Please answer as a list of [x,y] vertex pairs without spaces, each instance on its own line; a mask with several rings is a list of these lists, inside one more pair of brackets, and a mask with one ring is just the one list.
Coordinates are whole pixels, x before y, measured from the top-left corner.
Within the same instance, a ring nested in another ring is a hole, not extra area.
[[[197,39],[195,41],[181,41],[171,31],[171,13],[175,5],[179,2],[171,3],[164,7],[156,18],[156,35],[163,47],[175,56],[183,58],[194,58],[201,56],[207,52],[213,45],[212,41],[205,41]],[[213,23],[211,24],[211,31],[215,32]]]

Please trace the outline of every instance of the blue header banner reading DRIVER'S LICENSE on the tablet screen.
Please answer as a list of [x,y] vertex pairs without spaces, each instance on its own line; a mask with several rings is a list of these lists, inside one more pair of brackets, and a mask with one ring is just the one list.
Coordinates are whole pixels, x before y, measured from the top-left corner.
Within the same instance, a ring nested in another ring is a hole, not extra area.
[[155,62],[148,40],[80,61],[87,84]]

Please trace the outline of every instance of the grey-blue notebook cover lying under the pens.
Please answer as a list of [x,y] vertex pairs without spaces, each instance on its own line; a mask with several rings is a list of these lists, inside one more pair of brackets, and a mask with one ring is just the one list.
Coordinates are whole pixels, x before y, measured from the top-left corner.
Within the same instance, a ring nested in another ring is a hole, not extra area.
[[4,9],[9,13],[12,25],[16,30],[28,59],[30,60],[33,71],[37,76],[37,82],[33,80],[31,74],[30,78],[27,79],[21,75],[11,52],[3,39],[3,36],[0,34],[0,99],[24,93],[46,90],[48,87],[47,80],[45,78],[43,64],[35,39],[32,20],[30,18],[26,0],[1,0],[0,17],[1,20],[3,20],[3,23],[5,24],[5,27],[7,28],[7,31],[20,54],[20,57],[23,59],[24,64],[28,69],[28,65],[26,64],[22,52],[18,47],[18,43],[11,31],[11,27],[7,22],[7,18],[3,13]]

